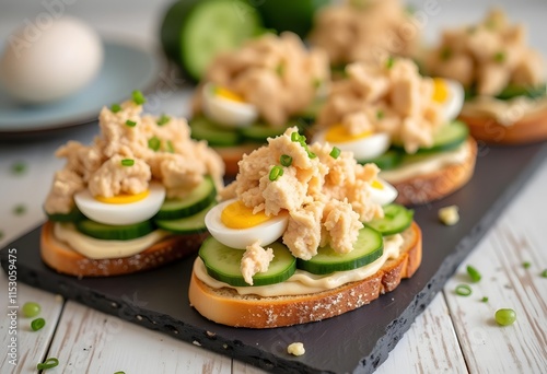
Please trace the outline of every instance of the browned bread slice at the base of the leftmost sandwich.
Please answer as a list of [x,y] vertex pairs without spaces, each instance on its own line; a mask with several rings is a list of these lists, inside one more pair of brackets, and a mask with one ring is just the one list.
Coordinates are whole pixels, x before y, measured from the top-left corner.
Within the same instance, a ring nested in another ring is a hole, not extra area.
[[156,268],[198,250],[208,233],[172,235],[140,254],[114,259],[90,259],[71,249],[54,235],[54,222],[42,226],[40,256],[60,273],[75,277],[112,277]]

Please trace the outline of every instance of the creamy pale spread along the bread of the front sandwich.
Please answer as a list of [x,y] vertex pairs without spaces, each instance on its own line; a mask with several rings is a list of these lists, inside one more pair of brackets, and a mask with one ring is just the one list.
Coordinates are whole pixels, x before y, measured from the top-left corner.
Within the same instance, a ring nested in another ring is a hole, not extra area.
[[312,274],[307,271],[296,269],[295,273],[284,282],[268,285],[233,287],[218,281],[207,273],[203,261],[199,258],[194,264],[194,273],[199,280],[211,288],[231,288],[236,290],[241,295],[256,294],[264,297],[302,295],[333,290],[342,284],[360,281],[373,276],[382,268],[385,261],[399,256],[401,245],[401,235],[392,235],[384,238],[384,252],[382,256],[369,265],[353,270],[336,271],[325,276]]

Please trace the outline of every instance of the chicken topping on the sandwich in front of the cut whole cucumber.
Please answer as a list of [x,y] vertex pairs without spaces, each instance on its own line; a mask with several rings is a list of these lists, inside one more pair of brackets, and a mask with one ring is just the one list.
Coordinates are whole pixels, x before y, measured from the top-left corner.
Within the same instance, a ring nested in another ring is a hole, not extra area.
[[[307,49],[292,33],[267,34],[242,48],[218,56],[203,83],[211,82],[257,107],[269,126],[286,125],[305,109],[319,86],[329,80],[328,58],[323,50]],[[202,87],[194,96],[194,114],[202,108]]]

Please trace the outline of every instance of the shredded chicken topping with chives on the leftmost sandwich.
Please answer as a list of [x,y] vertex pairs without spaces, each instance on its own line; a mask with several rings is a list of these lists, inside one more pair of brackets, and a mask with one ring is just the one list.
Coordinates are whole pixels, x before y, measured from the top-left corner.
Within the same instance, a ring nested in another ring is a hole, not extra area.
[[[142,192],[151,180],[158,180],[167,197],[184,197],[206,175],[222,188],[222,159],[205,142],[189,138],[185,119],[141,116],[142,106],[133,101],[120,106],[116,113],[107,107],[101,110],[101,133],[91,145],[69,141],[57,151],[67,163],[54,177],[46,212],[70,212],[73,195],[84,188],[92,196],[113,197]],[[123,166],[125,159],[132,160],[132,165]]]

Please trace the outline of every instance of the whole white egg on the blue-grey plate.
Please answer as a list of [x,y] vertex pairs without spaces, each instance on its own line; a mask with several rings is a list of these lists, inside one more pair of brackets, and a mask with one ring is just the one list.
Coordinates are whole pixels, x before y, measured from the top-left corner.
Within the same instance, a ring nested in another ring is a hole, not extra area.
[[4,44],[0,82],[22,103],[55,102],[89,84],[101,70],[103,55],[97,33],[75,17],[27,23]]

